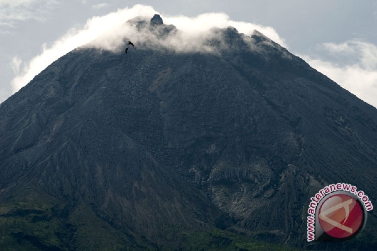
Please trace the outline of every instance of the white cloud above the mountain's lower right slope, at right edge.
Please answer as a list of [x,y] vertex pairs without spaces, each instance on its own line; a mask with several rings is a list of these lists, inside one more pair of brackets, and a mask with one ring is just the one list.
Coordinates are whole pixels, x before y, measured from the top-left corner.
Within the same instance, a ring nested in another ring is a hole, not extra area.
[[309,56],[302,58],[346,90],[377,107],[377,46],[352,40],[342,44],[325,43],[323,48],[335,55],[350,54],[354,61],[351,64],[339,65]]

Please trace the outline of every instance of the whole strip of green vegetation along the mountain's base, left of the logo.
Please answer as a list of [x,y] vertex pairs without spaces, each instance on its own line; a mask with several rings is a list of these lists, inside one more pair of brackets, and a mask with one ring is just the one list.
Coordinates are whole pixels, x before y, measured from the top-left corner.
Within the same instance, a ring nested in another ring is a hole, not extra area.
[[294,250],[219,229],[183,234],[175,243],[179,248],[156,245],[130,230],[116,229],[88,205],[67,209],[64,201],[36,194],[0,205],[2,250]]

